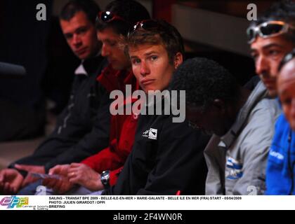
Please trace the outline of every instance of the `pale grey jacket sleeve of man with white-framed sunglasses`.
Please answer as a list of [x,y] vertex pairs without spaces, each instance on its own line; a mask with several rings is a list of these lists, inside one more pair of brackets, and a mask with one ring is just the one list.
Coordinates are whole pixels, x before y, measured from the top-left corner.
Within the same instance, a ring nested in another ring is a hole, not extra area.
[[265,190],[265,167],[268,151],[273,139],[276,116],[271,105],[255,109],[249,116],[249,123],[242,135],[240,146],[243,175],[232,188],[234,195],[261,195]]

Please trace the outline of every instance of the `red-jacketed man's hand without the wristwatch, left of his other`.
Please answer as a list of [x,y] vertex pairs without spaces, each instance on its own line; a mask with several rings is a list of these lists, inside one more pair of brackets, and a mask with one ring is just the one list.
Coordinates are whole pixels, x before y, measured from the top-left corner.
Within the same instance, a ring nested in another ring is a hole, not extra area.
[[42,184],[47,188],[52,188],[55,192],[59,194],[63,194],[70,190],[74,184],[70,183],[69,179],[67,178],[68,169],[70,165],[56,165],[55,167],[49,169],[48,174],[58,174],[62,176],[62,179],[51,179],[46,178],[43,180]]

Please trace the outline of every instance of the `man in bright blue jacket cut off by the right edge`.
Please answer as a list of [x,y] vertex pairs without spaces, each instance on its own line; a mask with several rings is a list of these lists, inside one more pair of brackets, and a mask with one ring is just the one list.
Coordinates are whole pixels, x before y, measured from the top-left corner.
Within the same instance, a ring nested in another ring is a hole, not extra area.
[[268,155],[266,195],[295,194],[295,49],[280,64],[277,93],[283,114],[275,124]]

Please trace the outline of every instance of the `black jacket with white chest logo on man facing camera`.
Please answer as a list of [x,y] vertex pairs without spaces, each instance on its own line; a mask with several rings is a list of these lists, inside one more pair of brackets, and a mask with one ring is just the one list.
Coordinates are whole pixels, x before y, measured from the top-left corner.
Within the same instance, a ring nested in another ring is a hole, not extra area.
[[209,137],[172,118],[140,115],[131,154],[116,185],[104,194],[204,195]]

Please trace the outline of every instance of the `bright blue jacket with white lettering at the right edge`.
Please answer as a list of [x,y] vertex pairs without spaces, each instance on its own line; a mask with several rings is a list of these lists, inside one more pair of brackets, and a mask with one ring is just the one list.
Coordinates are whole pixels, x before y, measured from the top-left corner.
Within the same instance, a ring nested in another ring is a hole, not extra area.
[[284,114],[275,124],[268,155],[266,195],[295,195],[295,132]]

